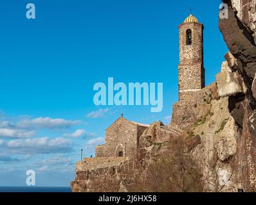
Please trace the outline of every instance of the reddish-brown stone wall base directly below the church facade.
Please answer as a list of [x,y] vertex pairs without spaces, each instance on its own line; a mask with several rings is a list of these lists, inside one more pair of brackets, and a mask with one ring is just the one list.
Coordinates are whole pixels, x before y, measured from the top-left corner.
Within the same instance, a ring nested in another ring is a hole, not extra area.
[[72,192],[127,192],[135,163],[127,158],[88,158],[77,163]]

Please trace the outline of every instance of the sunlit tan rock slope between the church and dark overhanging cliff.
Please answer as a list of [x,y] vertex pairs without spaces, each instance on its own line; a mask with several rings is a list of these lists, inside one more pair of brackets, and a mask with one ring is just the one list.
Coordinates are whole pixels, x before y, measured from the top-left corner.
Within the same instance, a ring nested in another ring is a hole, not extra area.
[[[190,101],[174,104],[172,123],[169,125],[184,130],[181,135],[187,139],[188,152],[192,153],[203,174],[204,192],[237,192],[246,167],[246,160],[242,158],[246,147],[241,147],[242,135],[230,113],[230,97],[244,95],[242,78],[226,61],[223,65],[217,77],[225,76],[226,72],[230,72],[230,76],[237,75],[229,82],[232,85],[238,83],[241,90],[226,92],[220,97],[218,93],[226,89],[226,83],[219,83],[219,86],[212,83],[197,92]],[[165,156],[168,142],[172,143],[179,137],[165,132],[161,122],[146,129],[140,136],[140,172],[147,173],[147,167]]]

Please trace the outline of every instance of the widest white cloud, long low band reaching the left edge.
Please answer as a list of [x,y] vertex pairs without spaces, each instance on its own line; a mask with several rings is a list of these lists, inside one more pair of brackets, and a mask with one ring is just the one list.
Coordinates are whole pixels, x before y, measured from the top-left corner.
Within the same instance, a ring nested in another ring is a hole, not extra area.
[[72,142],[64,138],[28,138],[2,143],[0,141],[0,145],[3,148],[11,149],[13,152],[23,154],[50,154],[73,151]]

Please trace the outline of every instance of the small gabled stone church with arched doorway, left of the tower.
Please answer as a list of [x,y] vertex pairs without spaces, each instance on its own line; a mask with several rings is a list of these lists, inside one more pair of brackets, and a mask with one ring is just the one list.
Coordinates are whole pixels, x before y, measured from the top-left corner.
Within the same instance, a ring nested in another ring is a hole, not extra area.
[[122,115],[105,130],[105,144],[95,148],[96,157],[136,158],[139,137],[147,127]]

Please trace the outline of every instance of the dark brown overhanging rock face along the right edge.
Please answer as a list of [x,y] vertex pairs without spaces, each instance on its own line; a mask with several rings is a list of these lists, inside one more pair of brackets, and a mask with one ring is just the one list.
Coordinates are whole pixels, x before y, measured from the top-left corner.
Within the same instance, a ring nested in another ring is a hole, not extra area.
[[[256,1],[223,0],[228,4],[228,19],[219,20],[219,28],[235,60],[226,58],[228,65],[237,70],[244,81],[244,95],[230,97],[229,109],[239,126],[242,138],[239,141],[237,160],[246,161],[241,186],[246,191],[256,191]],[[227,56],[228,57],[228,56]],[[235,61],[235,63],[234,63]]]

